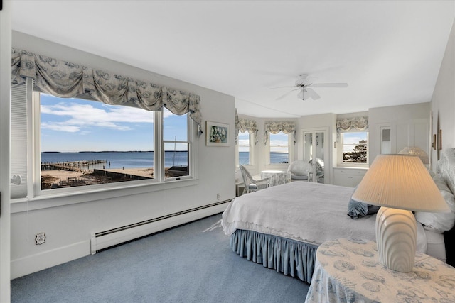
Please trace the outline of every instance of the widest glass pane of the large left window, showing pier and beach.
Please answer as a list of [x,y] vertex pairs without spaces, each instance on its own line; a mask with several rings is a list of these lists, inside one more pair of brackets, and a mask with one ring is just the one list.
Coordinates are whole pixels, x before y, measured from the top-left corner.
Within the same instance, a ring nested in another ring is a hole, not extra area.
[[154,112],[35,94],[41,190],[154,178]]

